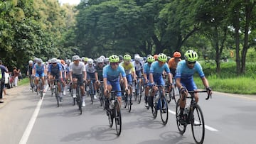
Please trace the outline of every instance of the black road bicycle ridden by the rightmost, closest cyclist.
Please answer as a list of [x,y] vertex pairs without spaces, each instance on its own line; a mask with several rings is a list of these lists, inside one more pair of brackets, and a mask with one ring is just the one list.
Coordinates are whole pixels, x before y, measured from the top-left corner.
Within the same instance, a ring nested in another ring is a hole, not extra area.
[[[186,131],[186,126],[188,124],[191,124],[191,129],[193,133],[193,138],[196,141],[196,143],[203,143],[204,136],[205,136],[205,123],[203,119],[203,111],[201,107],[196,103],[195,99],[195,93],[202,93],[207,92],[207,90],[203,91],[188,91],[190,96],[187,96],[187,99],[191,99],[190,105],[186,106],[183,112],[183,118],[180,118],[180,104],[179,101],[181,99],[178,99],[176,104],[176,123],[178,126],[178,131],[183,134]],[[206,100],[211,98],[211,94],[208,94]],[[184,99],[185,101],[185,96]]]

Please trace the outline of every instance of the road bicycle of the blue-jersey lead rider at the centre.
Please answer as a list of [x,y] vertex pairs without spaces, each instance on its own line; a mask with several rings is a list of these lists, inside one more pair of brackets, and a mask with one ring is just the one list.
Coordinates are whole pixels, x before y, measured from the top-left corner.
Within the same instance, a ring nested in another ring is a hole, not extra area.
[[108,121],[110,123],[110,128],[112,128],[113,123],[115,121],[117,135],[119,136],[122,131],[122,116],[121,116],[120,104],[119,104],[119,101],[117,100],[117,92],[124,92],[124,91],[110,91],[111,93],[110,99],[105,99],[105,104],[109,105],[106,111],[107,111]]

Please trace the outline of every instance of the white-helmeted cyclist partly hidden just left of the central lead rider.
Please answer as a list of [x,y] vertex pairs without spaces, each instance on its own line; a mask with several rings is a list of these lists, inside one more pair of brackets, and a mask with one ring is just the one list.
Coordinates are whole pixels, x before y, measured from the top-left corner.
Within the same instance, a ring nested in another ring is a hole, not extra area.
[[99,88],[100,88],[100,82],[99,81],[103,81],[103,67],[104,67],[104,59],[102,59],[102,57],[97,58],[97,66],[96,66],[96,70],[95,70],[95,80],[96,80],[96,89],[97,89],[97,93],[99,92]]

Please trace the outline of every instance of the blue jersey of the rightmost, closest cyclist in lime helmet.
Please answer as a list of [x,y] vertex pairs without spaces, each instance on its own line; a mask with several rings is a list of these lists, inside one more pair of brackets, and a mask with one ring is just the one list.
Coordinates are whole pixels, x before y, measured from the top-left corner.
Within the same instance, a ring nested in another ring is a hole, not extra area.
[[181,60],[180,62],[178,62],[178,65],[177,65],[176,78],[192,79],[193,74],[195,72],[198,72],[200,77],[205,77],[205,74],[203,73],[203,69],[199,62],[196,62],[194,67],[192,69],[190,69],[186,65],[186,60]]

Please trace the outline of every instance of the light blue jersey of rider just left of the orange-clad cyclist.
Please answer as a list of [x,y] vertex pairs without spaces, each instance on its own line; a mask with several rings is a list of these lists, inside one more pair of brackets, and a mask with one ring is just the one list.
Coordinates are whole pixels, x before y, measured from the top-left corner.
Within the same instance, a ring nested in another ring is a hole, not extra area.
[[159,66],[158,61],[153,62],[151,64],[150,73],[153,74],[154,79],[159,79],[161,77],[161,75],[163,74],[164,70],[167,74],[170,73],[170,69],[169,69],[167,63],[164,63],[164,65],[162,65],[161,67]]

